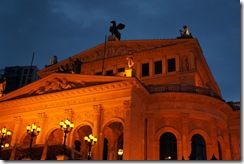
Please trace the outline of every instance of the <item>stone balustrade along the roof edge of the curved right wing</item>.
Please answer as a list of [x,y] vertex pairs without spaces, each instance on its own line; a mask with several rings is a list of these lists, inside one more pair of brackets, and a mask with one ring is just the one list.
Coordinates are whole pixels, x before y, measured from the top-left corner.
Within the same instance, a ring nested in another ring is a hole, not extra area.
[[192,86],[192,85],[180,85],[180,84],[148,85],[146,86],[146,88],[150,94],[161,93],[161,92],[196,93],[196,94],[214,97],[224,101],[218,94],[214,93],[213,90]]

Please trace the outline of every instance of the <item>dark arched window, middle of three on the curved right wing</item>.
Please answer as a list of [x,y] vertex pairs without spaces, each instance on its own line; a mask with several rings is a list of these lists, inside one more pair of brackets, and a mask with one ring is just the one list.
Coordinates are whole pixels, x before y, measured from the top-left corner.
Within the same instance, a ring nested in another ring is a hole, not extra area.
[[195,134],[192,136],[191,141],[190,160],[206,160],[206,144],[203,137]]

